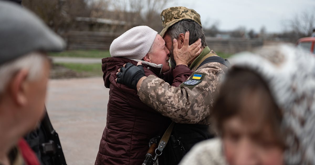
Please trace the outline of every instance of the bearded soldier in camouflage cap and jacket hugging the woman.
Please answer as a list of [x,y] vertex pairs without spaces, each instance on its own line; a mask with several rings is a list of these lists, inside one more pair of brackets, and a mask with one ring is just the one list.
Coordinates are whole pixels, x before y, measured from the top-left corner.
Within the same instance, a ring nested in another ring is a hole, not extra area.
[[[189,24],[194,24],[192,27],[199,26],[201,29],[200,37],[197,36],[197,39],[201,38],[203,51],[188,64],[187,67],[194,72],[179,88],[172,87],[162,79],[150,75],[146,78],[143,77],[137,83],[137,87],[139,87],[137,88],[138,95],[142,102],[164,116],[171,118],[176,123],[209,125],[211,123],[209,118],[213,97],[227,67],[219,62],[209,62],[199,67],[206,58],[217,55],[209,49],[205,42],[200,15],[195,10],[185,7],[171,7],[162,11],[161,19],[164,28],[160,35],[165,40],[169,50],[173,50],[171,46],[173,45],[172,40],[175,38],[171,37],[170,30],[173,30],[173,27],[181,21],[188,21],[188,28]],[[196,41],[193,39],[193,37],[196,38],[194,36],[195,29],[186,29],[186,27],[183,29],[184,31],[175,38],[177,39],[175,44],[179,47],[186,30],[190,32],[189,44]],[[174,56],[172,59],[174,59]],[[186,59],[189,59],[189,57],[186,57]],[[172,65],[174,65],[174,62]]]

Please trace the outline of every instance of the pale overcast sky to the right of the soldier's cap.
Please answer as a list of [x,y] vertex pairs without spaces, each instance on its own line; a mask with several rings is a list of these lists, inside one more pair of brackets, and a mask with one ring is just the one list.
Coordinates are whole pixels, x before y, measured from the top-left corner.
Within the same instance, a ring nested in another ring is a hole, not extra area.
[[315,12],[315,0],[180,0],[169,3],[196,10],[203,26],[219,22],[220,30],[233,30],[240,26],[259,32],[284,30],[283,21],[305,10]]

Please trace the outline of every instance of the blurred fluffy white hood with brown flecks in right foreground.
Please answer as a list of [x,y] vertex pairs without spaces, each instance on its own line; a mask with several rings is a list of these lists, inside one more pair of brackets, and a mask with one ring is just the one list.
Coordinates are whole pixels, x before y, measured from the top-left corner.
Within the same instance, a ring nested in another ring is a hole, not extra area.
[[315,164],[315,58],[288,45],[265,46],[230,59],[231,68],[252,70],[265,80],[283,113],[284,164]]

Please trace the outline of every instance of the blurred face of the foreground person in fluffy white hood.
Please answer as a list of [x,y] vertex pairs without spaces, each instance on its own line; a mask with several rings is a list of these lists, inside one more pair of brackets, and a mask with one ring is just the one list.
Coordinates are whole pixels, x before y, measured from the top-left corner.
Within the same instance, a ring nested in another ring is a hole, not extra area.
[[283,149],[268,123],[233,116],[223,123],[223,148],[229,165],[283,165]]

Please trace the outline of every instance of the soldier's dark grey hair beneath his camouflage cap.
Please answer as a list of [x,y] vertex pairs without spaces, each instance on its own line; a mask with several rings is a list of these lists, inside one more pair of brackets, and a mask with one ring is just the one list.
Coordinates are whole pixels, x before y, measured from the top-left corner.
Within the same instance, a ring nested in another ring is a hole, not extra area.
[[173,40],[178,39],[179,35],[181,33],[185,34],[186,31],[189,31],[189,45],[201,38],[201,45],[204,47],[207,46],[203,28],[196,21],[190,19],[176,22],[167,30],[166,34]]

